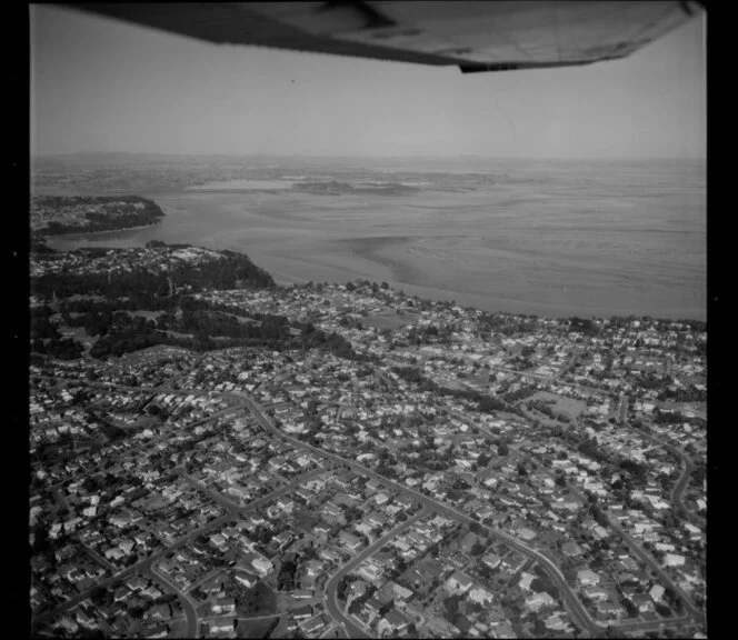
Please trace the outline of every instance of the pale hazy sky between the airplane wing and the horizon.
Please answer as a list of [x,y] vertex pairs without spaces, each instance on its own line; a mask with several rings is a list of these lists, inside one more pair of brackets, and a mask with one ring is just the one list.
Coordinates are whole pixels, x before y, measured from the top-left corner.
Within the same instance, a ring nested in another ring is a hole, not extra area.
[[30,12],[32,153],[706,154],[704,18],[625,60],[463,76]]

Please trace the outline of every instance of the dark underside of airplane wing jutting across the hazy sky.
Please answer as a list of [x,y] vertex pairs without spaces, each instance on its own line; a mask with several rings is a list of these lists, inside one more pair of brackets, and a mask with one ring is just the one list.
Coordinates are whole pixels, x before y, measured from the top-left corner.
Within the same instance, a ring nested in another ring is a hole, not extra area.
[[219,44],[353,56],[462,72],[625,58],[702,11],[698,2],[449,1],[72,3]]

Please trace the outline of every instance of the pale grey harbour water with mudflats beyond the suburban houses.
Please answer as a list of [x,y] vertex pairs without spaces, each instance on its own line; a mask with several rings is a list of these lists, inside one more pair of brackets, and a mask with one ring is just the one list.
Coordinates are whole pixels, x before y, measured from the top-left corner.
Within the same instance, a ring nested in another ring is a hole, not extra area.
[[166,212],[157,226],[49,243],[232,249],[282,282],[387,281],[490,311],[705,319],[704,163],[538,161],[509,176],[395,196],[216,182],[141,193]]

